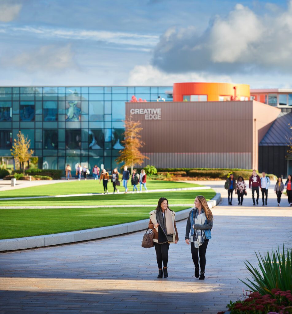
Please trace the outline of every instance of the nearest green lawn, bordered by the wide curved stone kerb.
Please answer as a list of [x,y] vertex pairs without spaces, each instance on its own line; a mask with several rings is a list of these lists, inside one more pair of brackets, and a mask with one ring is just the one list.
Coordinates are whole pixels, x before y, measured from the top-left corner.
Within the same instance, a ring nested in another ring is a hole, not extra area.
[[[187,207],[173,209],[177,212],[185,208]],[[153,209],[138,206],[136,208],[0,209],[0,239],[118,225],[147,219]],[[183,235],[181,237],[183,238]]]

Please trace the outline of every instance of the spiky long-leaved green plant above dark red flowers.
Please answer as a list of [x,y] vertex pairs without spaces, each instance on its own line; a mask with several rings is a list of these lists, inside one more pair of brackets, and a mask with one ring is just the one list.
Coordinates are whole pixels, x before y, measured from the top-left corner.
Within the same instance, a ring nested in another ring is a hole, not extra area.
[[253,280],[246,278],[241,280],[251,291],[258,291],[261,295],[273,294],[272,289],[278,288],[282,291],[292,290],[292,249],[283,252],[280,249],[272,250],[272,254],[267,252],[262,256],[257,255],[258,268],[251,265],[246,260],[246,268],[250,272]]

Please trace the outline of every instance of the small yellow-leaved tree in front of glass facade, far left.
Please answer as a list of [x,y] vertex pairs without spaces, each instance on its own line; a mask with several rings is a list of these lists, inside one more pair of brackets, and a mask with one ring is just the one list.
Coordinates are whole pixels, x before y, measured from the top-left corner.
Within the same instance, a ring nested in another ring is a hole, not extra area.
[[20,167],[22,167],[24,174],[24,162],[28,161],[34,151],[30,149],[30,139],[24,137],[20,131],[17,134],[17,139],[14,138],[14,144],[12,145],[11,155],[19,161]]

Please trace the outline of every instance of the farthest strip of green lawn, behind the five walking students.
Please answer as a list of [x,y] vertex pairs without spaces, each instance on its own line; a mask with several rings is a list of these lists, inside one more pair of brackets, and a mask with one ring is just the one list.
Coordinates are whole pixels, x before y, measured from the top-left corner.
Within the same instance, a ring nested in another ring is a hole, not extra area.
[[[122,184],[122,183],[121,183]],[[198,184],[174,182],[174,181],[158,181],[148,180],[146,184],[148,190],[156,189],[172,189],[181,187],[200,187]],[[139,188],[139,186],[138,186]],[[142,187],[143,188],[143,187]],[[125,189],[120,186],[120,191]],[[133,189],[131,182],[128,182],[128,189]],[[144,188],[143,188],[144,190]],[[113,192],[112,183],[108,182],[108,191]],[[65,195],[65,194],[83,194],[83,193],[103,193],[102,182],[94,180],[87,181],[63,181],[61,183],[41,185],[37,187],[26,187],[22,189],[2,191],[0,198],[20,197],[20,196],[49,196],[49,195]]]

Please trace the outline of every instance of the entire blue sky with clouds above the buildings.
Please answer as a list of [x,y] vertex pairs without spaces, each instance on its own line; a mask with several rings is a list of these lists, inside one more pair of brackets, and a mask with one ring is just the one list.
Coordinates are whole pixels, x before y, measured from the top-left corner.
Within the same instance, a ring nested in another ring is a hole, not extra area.
[[0,0],[0,86],[292,88],[292,0]]

